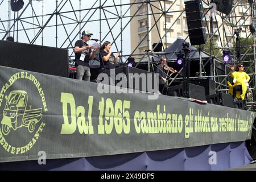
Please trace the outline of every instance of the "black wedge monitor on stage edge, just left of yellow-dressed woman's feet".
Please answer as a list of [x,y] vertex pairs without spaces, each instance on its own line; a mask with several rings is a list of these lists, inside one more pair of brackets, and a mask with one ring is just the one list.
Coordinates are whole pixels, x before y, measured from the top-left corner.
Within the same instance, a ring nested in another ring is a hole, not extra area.
[[232,95],[222,93],[222,92],[207,96],[207,102],[209,104],[216,104],[216,105],[221,105],[221,106],[234,107],[233,100],[232,100]]

